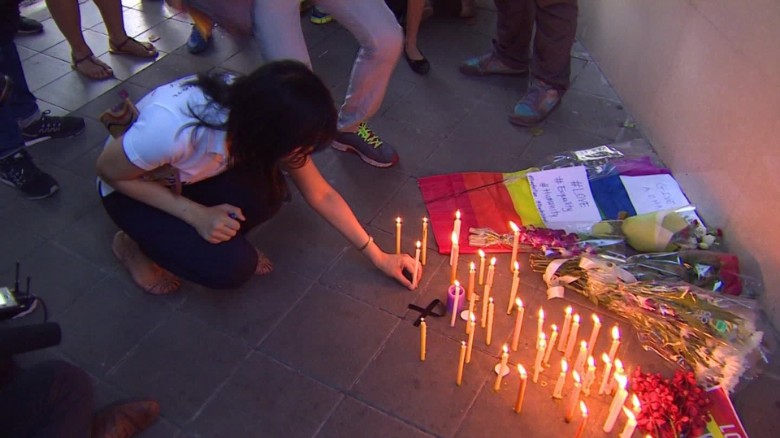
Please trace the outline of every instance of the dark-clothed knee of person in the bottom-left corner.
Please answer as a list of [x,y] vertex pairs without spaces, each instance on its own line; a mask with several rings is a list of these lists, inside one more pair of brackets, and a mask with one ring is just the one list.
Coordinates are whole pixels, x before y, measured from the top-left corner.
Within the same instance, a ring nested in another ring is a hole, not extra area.
[[[64,361],[19,371],[0,390],[4,436],[87,437],[94,392],[89,376]],[[8,434],[8,435],[5,435]]]

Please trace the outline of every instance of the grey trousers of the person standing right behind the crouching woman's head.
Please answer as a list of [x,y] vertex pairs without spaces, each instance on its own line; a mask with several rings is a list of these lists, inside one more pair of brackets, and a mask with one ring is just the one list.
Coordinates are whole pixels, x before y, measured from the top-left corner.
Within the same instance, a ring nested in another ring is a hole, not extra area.
[[[318,0],[360,43],[339,110],[338,128],[354,132],[382,104],[403,46],[403,32],[384,0]],[[299,0],[255,0],[254,35],[268,61],[295,59],[311,66]]]

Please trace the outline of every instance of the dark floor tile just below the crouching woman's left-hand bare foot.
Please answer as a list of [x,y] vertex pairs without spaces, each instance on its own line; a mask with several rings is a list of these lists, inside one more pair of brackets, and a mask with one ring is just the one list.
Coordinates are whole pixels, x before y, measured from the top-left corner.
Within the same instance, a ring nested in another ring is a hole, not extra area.
[[127,293],[130,288],[109,277],[57,318],[62,352],[92,374],[104,376],[170,312],[151,297]]

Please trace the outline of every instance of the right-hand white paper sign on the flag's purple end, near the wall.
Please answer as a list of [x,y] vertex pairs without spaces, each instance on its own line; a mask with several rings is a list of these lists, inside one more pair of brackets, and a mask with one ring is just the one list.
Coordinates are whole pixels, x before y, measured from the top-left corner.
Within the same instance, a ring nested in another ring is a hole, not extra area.
[[620,180],[637,214],[674,210],[690,204],[671,175],[621,176]]

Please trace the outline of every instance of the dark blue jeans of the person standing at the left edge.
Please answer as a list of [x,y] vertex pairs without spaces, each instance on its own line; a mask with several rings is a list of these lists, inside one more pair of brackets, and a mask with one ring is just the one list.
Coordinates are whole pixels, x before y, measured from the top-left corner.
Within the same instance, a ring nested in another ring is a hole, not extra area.
[[13,39],[0,42],[0,74],[8,75],[14,83],[8,100],[0,106],[0,158],[5,158],[24,146],[18,121],[38,112]]

